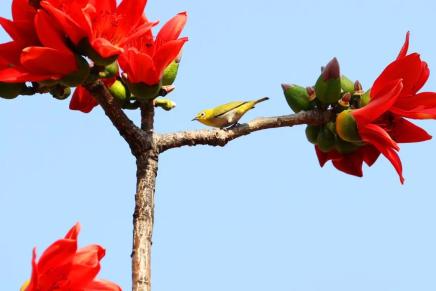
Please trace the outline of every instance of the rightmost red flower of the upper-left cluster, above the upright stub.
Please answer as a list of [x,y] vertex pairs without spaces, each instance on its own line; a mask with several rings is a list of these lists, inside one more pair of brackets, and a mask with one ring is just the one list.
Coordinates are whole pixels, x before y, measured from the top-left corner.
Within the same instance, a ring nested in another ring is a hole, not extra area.
[[176,59],[188,40],[187,37],[178,38],[186,20],[186,12],[179,13],[161,28],[156,39],[149,32],[126,44],[126,51],[121,54],[119,62],[130,83],[159,84],[164,70]]

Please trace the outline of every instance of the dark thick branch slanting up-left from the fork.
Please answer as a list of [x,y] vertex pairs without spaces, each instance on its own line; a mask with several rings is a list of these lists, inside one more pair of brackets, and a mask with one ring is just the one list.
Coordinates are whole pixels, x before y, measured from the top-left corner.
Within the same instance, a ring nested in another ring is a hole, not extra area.
[[129,144],[133,154],[137,156],[143,152],[146,144],[145,134],[127,117],[103,82],[96,81],[85,88],[97,99],[120,135]]

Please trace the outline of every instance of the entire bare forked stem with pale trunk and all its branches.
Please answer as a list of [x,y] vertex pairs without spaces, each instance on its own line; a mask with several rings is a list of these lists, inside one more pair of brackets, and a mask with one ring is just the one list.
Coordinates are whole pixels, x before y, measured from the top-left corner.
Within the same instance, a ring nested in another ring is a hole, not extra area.
[[230,129],[203,129],[157,134],[154,132],[153,101],[140,105],[141,126],[136,126],[101,81],[85,85],[107,117],[129,144],[136,157],[137,183],[133,214],[132,290],[151,291],[151,247],[154,223],[155,185],[159,154],[183,146],[225,146],[252,132],[298,124],[324,124],[331,113],[302,111],[297,114],[262,117]]

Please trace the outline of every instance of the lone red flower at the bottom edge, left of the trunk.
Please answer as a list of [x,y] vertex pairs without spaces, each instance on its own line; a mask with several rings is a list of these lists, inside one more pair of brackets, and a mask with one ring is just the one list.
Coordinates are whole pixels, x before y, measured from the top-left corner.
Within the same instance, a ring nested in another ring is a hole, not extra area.
[[121,291],[109,281],[96,280],[100,260],[105,250],[99,245],[77,248],[80,225],[76,224],[60,239],[50,245],[36,261],[32,256],[32,277],[22,291]]

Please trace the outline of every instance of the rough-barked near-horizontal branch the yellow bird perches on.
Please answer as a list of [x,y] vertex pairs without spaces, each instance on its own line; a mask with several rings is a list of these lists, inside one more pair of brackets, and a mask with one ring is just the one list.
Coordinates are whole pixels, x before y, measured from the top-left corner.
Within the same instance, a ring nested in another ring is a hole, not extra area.
[[330,116],[330,112],[314,110],[292,115],[257,118],[231,129],[208,129],[161,134],[157,136],[157,144],[159,152],[182,146],[225,146],[229,141],[255,131],[297,124],[323,124],[330,120]]

